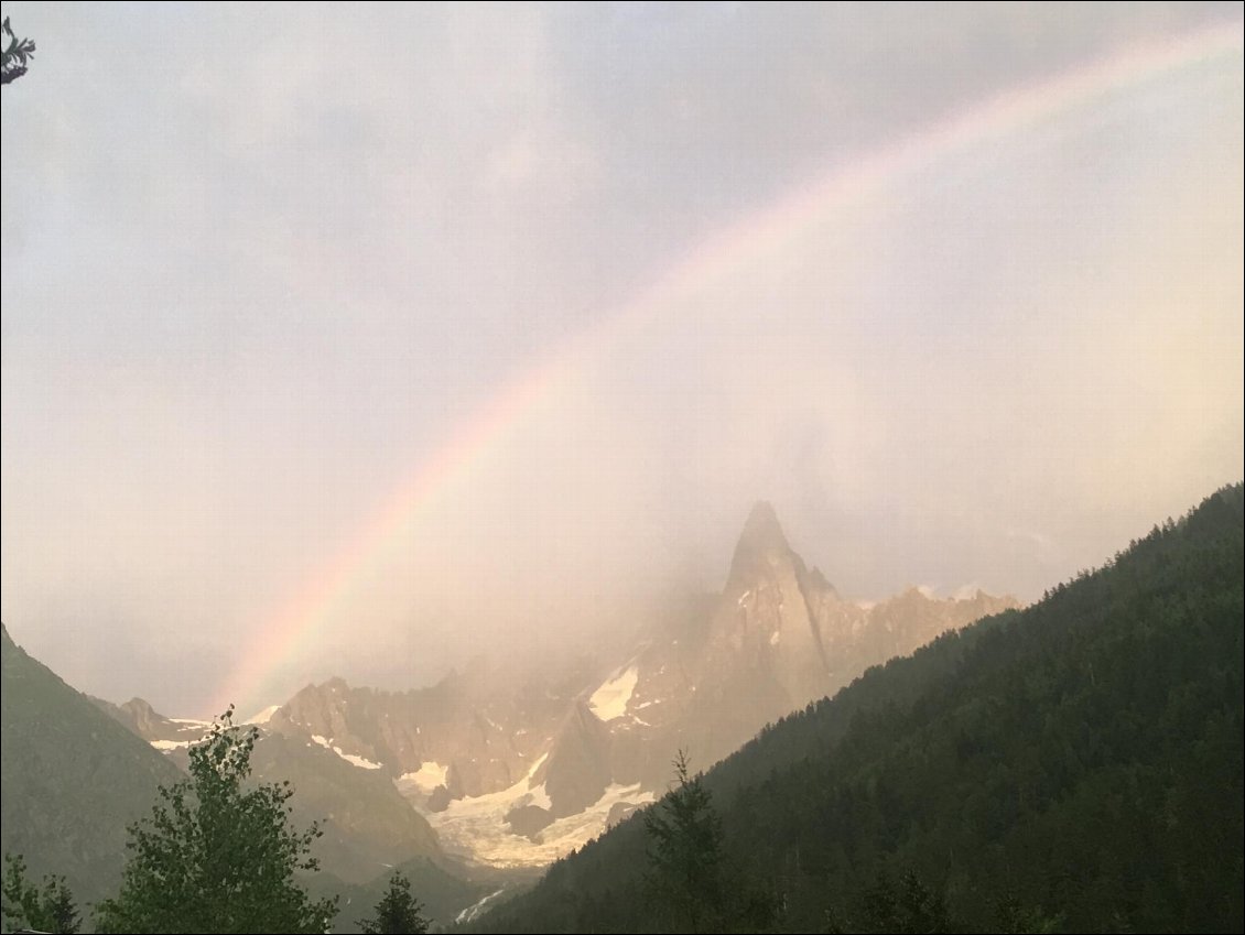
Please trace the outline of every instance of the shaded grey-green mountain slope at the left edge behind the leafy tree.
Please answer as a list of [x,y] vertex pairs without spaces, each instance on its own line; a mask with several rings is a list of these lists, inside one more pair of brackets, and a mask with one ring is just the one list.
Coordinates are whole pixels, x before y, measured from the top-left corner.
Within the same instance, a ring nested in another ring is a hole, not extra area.
[[80,905],[121,880],[126,827],[179,771],[51,670],[0,636],[0,849],[31,875],[66,876]]

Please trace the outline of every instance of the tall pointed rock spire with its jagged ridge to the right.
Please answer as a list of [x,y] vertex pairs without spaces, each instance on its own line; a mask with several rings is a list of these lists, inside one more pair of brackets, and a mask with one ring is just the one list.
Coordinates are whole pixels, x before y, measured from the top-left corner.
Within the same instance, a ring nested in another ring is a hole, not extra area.
[[675,749],[707,767],[869,666],[1015,605],[980,591],[940,600],[918,589],[872,606],[843,600],[792,550],[773,508],[758,503],[722,594],[632,660],[635,687],[609,720],[615,774],[660,788]]

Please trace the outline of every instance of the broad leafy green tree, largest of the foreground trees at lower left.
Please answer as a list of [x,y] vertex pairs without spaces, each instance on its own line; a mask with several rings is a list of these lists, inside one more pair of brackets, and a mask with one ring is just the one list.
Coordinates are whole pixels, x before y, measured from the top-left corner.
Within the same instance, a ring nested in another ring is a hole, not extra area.
[[295,881],[316,870],[316,824],[290,827],[289,782],[248,787],[259,731],[230,705],[190,749],[190,777],[161,787],[151,818],[129,828],[121,894],[97,909],[101,931],[322,933],[337,900],[312,901]]

